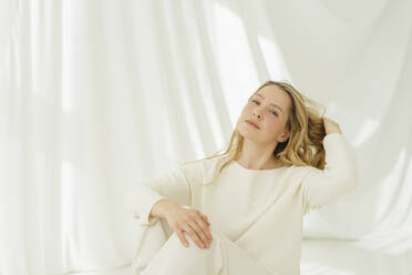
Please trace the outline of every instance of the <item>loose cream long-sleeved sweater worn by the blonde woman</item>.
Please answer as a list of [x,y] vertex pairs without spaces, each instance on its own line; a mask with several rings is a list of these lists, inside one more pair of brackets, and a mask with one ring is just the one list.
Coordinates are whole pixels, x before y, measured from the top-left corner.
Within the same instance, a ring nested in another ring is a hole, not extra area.
[[358,186],[358,165],[341,133],[325,136],[326,169],[284,166],[248,170],[236,161],[209,182],[227,156],[181,165],[136,184],[127,201],[138,223],[151,226],[153,204],[166,198],[208,216],[215,228],[274,274],[300,274],[302,216]]

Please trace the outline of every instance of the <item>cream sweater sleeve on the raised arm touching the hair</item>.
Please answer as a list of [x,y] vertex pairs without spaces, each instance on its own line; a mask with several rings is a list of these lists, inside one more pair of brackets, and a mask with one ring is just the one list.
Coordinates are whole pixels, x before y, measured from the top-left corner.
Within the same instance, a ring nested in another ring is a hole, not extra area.
[[327,134],[323,147],[325,170],[305,167],[301,181],[305,214],[353,192],[359,185],[356,152],[346,136],[342,133]]

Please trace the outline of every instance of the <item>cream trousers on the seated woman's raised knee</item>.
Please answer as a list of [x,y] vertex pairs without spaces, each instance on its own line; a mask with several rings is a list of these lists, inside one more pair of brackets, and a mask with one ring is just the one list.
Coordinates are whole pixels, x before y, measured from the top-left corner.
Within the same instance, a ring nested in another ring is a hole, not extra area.
[[199,248],[186,232],[184,246],[163,218],[140,227],[133,275],[274,275],[213,225],[209,248]]

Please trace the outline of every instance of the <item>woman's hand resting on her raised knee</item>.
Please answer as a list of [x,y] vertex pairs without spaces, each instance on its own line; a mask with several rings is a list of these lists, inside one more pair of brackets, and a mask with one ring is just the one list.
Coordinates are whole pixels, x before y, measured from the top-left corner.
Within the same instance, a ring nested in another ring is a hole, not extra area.
[[209,221],[200,211],[185,208],[178,204],[173,204],[168,207],[164,217],[166,218],[171,228],[176,233],[182,244],[186,247],[188,242],[183,235],[187,232],[192,240],[200,248],[209,248],[213,241],[209,231]]

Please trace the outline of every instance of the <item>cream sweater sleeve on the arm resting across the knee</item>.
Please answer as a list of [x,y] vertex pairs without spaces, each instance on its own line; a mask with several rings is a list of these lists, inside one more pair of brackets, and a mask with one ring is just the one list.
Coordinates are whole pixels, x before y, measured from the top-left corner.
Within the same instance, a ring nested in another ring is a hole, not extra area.
[[182,206],[190,205],[192,181],[198,173],[196,165],[179,165],[171,173],[158,177],[147,177],[130,186],[126,207],[141,225],[153,225],[158,217],[152,216],[153,205],[159,200],[168,200]]

